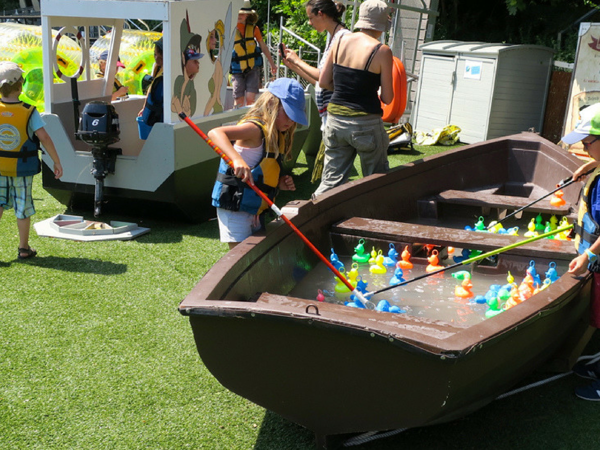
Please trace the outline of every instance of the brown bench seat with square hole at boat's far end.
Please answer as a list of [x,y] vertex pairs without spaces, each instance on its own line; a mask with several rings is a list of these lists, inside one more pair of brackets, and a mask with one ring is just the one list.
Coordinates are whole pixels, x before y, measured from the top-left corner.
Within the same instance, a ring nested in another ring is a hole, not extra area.
[[[427,200],[421,200],[419,202],[419,217],[437,218],[437,205],[439,203],[448,203],[454,205],[479,206],[481,207],[482,215],[490,214],[491,208],[495,208],[498,210],[497,217],[502,219],[506,215],[506,212],[523,208],[534,200],[537,200],[537,198],[506,196],[481,191],[473,193],[471,191],[451,189],[442,191],[435,196],[429,197]],[[550,198],[551,197],[548,197],[547,199],[528,206],[525,211],[540,214],[554,214],[557,216],[569,215],[571,213],[571,205],[569,205],[569,203],[558,207],[551,206]],[[522,212],[517,214],[517,217],[520,217],[520,214],[522,214]]]

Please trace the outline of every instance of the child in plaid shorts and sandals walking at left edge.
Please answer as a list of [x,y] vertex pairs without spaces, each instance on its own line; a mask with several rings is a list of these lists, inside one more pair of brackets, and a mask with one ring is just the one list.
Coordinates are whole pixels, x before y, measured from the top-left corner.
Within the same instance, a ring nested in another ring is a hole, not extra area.
[[31,195],[33,178],[41,171],[40,142],[54,162],[54,175],[61,178],[61,161],[46,125],[35,106],[19,100],[23,71],[11,61],[0,62],[0,217],[4,209],[14,208],[19,230],[19,259],[37,254],[29,246],[31,216],[35,214]]

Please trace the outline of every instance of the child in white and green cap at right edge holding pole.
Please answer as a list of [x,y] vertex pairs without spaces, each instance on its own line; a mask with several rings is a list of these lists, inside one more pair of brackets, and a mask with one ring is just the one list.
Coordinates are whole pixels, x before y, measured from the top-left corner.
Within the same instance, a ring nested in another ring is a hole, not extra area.
[[[573,179],[583,179],[589,170],[581,191],[577,223],[574,224],[575,249],[578,256],[569,263],[569,274],[585,275],[592,272],[592,294],[590,296],[590,325],[600,328],[600,103],[581,110],[580,121],[571,133],[561,139],[572,145],[580,142],[584,151],[592,158],[573,173]],[[592,379],[592,383],[575,389],[575,395],[584,400],[600,400],[600,363],[581,361],[573,371],[581,377]]]

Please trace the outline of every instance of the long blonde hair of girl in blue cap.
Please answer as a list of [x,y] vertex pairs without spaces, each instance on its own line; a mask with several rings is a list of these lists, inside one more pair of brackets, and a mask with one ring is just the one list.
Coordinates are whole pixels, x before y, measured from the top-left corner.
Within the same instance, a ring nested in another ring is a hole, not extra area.
[[[280,106],[283,107],[281,100],[271,94],[271,92],[266,91],[259,95],[259,98],[244,115],[244,119],[253,117],[262,119],[266,128],[266,151],[275,152],[275,154],[279,153],[279,131],[277,131],[275,120],[277,119]],[[282,133],[284,137],[283,157],[286,161],[292,159],[292,143],[295,131],[296,122],[287,131]]]

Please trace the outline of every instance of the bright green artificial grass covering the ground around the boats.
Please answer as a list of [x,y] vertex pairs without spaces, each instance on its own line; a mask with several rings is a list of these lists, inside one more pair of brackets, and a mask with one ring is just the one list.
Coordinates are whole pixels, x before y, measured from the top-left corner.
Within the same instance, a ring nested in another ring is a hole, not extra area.
[[[440,150],[391,155],[391,166]],[[36,178],[33,221],[65,212]],[[287,201],[284,194],[306,199],[314,190],[302,157],[295,178],[298,190],[282,193],[279,205]],[[200,361],[188,319],[178,313],[181,299],[226,253],[217,223],[119,218],[151,232],[132,241],[86,243],[40,238],[32,230],[39,255],[21,262],[14,214],[5,211],[0,448],[313,448],[310,431],[223,388]],[[596,339],[589,351],[598,347]],[[356,389],[411,388],[360,374],[340,376],[356,377]],[[593,448],[599,445],[593,432],[598,404],[572,393],[583,383],[569,376],[449,424],[353,448]]]

